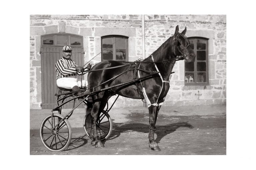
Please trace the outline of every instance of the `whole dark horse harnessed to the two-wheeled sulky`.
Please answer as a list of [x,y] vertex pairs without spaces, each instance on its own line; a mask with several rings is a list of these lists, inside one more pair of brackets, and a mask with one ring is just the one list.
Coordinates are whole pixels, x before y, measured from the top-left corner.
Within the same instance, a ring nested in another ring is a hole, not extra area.
[[[113,61],[113,60],[104,60],[100,63],[97,63],[92,69],[92,72],[88,73],[88,88],[98,86],[99,84],[125,72],[126,70],[133,69],[138,67],[142,70],[151,71],[160,71],[160,74],[157,76],[141,80],[137,86],[140,90],[144,89],[145,98],[148,99],[148,110],[149,110],[149,147],[152,150],[160,150],[158,144],[155,142],[154,130],[156,130],[155,124],[158,112],[161,108],[161,105],[164,101],[164,98],[169,90],[169,77],[172,73],[173,66],[175,64],[175,58],[177,56],[182,56],[186,58],[188,62],[194,62],[195,54],[190,47],[190,43],[185,36],[186,28],[182,33],[179,33],[179,27],[176,26],[174,36],[166,40],[156,51],[154,51],[149,57],[147,57],[140,65],[127,65],[124,67],[118,67],[113,69],[105,69],[100,71],[93,71],[96,69],[115,67],[124,65],[122,62]],[[173,60],[172,60],[173,59]],[[163,62],[164,61],[164,62]],[[133,69],[134,70],[134,69]],[[137,73],[140,77],[148,75],[147,72],[139,71]],[[134,71],[127,71],[120,76],[117,76],[111,81],[104,83],[94,90],[100,90],[103,88],[111,87],[116,84],[127,82],[133,80]],[[124,97],[132,99],[141,99],[140,93],[137,91],[137,86],[134,84],[118,86],[111,88],[108,91],[102,91],[92,96],[92,103],[87,106],[86,113],[91,114],[92,125],[93,125],[93,139],[91,144],[97,147],[104,147],[100,140],[98,140],[96,120],[98,115],[106,106],[108,98],[111,97],[111,94],[119,94]],[[143,94],[144,94],[143,93]]]

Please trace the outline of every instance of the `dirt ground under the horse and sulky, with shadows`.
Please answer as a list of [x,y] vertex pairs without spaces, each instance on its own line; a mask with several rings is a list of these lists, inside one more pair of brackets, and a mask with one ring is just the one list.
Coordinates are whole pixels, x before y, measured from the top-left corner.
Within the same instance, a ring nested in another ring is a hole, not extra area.
[[112,108],[113,130],[103,142],[104,148],[90,144],[83,128],[84,111],[76,109],[68,119],[72,127],[69,147],[52,152],[39,134],[40,124],[51,110],[30,110],[30,155],[226,155],[226,105],[162,106],[155,131],[161,151],[148,146],[147,108]]

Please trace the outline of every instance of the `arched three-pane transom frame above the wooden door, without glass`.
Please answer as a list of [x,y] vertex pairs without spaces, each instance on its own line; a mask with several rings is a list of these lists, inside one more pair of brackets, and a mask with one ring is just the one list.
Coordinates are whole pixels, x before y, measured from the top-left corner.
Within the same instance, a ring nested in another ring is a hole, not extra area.
[[[46,45],[43,43],[43,38],[44,37],[50,37],[50,36],[54,36],[53,40],[54,40],[54,44],[53,45]],[[57,45],[57,36],[68,36],[68,44],[71,47],[83,47],[83,36],[79,36],[79,35],[75,35],[75,34],[67,34],[67,33],[52,33],[52,34],[46,34],[46,35],[42,35],[41,36],[41,47],[63,47],[65,44],[63,45]],[[71,37],[76,37],[81,39],[81,44],[80,45],[71,45]]]

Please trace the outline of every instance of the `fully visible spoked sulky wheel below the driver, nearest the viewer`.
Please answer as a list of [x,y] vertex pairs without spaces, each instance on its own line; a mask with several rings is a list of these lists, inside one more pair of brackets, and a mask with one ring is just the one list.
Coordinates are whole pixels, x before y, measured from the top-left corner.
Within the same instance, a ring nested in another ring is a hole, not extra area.
[[[60,114],[53,114],[44,118],[40,127],[40,137],[44,146],[50,151],[63,151],[71,141],[72,131],[67,119]],[[54,129],[59,122],[61,123]]]

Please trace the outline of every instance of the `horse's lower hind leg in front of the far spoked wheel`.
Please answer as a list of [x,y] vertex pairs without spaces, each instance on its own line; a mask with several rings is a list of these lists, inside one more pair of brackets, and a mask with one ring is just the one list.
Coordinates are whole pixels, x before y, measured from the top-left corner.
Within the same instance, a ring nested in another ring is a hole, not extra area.
[[100,109],[100,102],[94,103],[91,111],[91,121],[92,121],[92,132],[93,132],[93,139],[91,144],[95,147],[104,147],[103,143],[99,140],[99,136],[97,133],[97,118],[99,114],[99,109]]

